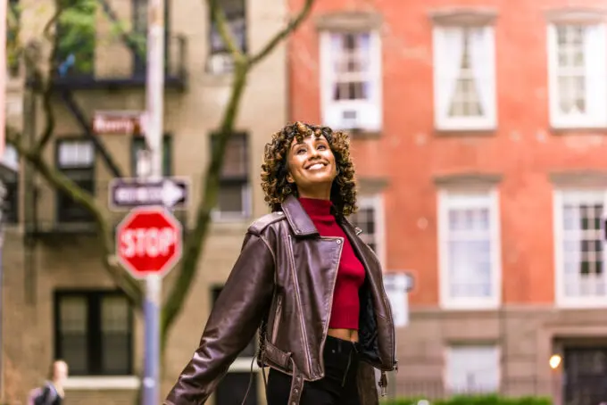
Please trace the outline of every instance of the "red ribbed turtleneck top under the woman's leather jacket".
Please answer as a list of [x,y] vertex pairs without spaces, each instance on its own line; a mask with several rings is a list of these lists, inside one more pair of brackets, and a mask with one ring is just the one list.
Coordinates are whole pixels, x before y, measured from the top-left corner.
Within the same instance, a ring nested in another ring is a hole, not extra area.
[[345,236],[344,229],[337,224],[331,213],[333,204],[329,200],[300,198],[320,236],[341,237],[344,239],[341,259],[337,268],[337,282],[333,293],[333,306],[328,327],[333,329],[358,330],[360,302],[358,291],[365,278],[365,269],[354,253],[352,244]]

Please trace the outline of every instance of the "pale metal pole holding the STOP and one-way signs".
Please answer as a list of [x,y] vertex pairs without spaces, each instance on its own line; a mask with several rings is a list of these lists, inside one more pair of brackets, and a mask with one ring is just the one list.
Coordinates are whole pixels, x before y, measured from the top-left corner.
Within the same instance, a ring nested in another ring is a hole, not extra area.
[[[147,3],[146,141],[152,179],[162,178],[162,125],[164,114],[164,0]],[[162,278],[146,277],[145,364],[143,405],[160,403],[160,308]]]

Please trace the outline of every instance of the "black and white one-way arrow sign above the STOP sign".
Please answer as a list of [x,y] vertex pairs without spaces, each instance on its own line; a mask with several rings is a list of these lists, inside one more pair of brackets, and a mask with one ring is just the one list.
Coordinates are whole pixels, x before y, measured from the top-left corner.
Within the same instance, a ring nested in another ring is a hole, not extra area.
[[162,178],[142,181],[137,178],[114,178],[110,183],[110,207],[113,210],[145,205],[178,208],[189,202],[189,181],[184,178]]

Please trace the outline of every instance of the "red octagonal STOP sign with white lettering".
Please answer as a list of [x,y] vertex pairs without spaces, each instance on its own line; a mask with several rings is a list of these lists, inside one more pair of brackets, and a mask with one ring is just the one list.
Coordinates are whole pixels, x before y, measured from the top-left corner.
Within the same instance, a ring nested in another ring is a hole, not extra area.
[[181,230],[162,207],[135,208],[116,227],[118,260],[135,278],[163,277],[181,258]]

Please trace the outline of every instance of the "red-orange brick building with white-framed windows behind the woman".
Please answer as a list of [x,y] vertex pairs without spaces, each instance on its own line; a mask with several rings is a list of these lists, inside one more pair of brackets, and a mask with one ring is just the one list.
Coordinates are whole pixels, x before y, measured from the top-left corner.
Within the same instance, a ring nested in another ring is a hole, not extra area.
[[332,0],[292,37],[290,120],[351,132],[359,223],[415,277],[390,392],[607,401],[606,23],[595,0]]

